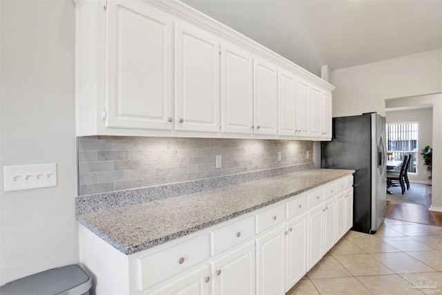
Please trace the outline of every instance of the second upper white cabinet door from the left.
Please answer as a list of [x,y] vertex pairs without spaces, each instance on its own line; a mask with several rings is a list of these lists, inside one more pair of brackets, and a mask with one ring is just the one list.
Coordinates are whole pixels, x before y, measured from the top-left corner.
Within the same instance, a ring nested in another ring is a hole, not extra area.
[[220,41],[187,23],[175,26],[175,129],[218,132]]

